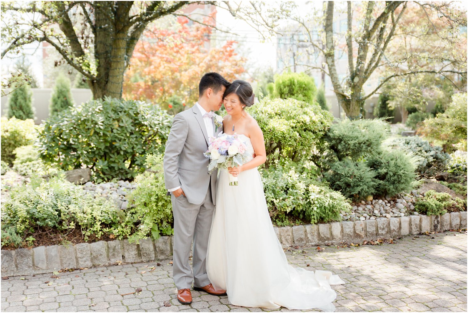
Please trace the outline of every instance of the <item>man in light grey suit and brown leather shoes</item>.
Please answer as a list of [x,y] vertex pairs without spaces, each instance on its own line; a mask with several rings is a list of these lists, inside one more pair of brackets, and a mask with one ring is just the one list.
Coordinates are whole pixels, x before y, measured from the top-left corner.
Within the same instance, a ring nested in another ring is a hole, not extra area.
[[[164,153],[164,181],[171,195],[174,214],[173,278],[177,300],[190,304],[194,290],[212,295],[215,291],[206,274],[206,250],[214,206],[217,171],[208,174],[209,159],[203,156],[208,138],[217,136],[221,127],[214,124],[214,112],[221,108],[229,85],[218,73],[206,73],[198,85],[198,102],[174,117]],[[193,239],[193,273],[189,265]]]

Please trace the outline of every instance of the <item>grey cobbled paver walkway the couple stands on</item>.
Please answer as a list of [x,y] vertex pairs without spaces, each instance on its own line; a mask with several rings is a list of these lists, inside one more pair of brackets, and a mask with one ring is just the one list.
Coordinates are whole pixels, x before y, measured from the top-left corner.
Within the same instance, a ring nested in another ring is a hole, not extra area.
[[[333,286],[336,311],[466,312],[467,234],[445,232],[396,244],[315,247],[286,252],[294,266],[331,270],[346,282]],[[231,306],[227,297],[193,291],[180,305],[170,260],[16,276],[1,281],[1,311],[44,312],[260,312]],[[147,266],[147,267],[146,267]],[[141,288],[139,294],[134,294]],[[132,293],[122,296],[122,294]],[[289,311],[282,308],[279,311]]]

